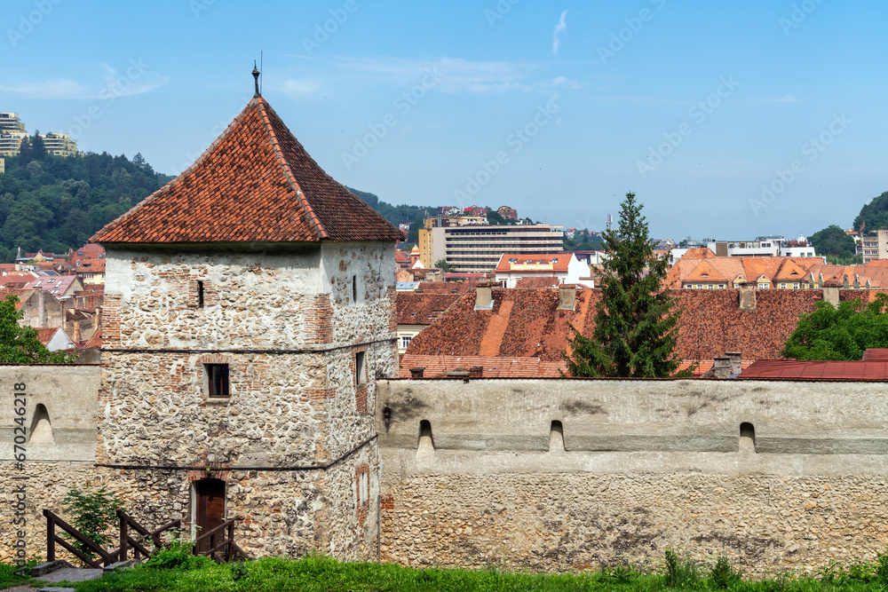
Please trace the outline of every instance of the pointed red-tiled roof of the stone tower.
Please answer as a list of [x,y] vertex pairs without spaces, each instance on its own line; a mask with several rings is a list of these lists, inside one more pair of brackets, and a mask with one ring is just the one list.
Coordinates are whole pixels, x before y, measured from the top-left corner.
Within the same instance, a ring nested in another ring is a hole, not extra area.
[[402,241],[254,97],[197,162],[102,228],[101,243]]

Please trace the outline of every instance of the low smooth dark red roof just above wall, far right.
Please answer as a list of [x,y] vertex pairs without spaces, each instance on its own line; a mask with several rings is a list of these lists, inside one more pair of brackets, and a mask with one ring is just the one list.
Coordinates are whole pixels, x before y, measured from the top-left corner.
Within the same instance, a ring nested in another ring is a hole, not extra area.
[[759,359],[738,379],[888,381],[888,361]]

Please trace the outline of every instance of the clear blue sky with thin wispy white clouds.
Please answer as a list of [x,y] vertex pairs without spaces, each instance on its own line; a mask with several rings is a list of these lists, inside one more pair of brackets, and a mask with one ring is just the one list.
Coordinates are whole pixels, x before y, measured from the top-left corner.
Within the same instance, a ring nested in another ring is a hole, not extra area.
[[[888,190],[875,0],[6,0],[0,110],[156,170],[263,94],[321,166],[393,203],[654,236],[850,227]],[[325,30],[326,29],[326,30]]]

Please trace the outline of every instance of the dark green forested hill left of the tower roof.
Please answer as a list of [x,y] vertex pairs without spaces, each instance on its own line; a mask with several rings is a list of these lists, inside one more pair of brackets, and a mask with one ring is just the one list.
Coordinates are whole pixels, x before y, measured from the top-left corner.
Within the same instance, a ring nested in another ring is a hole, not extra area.
[[7,157],[0,174],[0,260],[16,250],[64,253],[172,179],[141,154]]

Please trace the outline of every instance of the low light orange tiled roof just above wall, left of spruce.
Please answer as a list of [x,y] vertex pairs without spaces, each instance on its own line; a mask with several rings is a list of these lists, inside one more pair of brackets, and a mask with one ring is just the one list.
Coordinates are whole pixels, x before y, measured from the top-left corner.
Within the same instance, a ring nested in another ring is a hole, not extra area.
[[400,378],[410,377],[410,368],[424,367],[424,378],[439,378],[456,368],[483,367],[484,378],[559,378],[564,362],[539,358],[496,358],[490,356],[419,356],[404,354],[400,359]]

